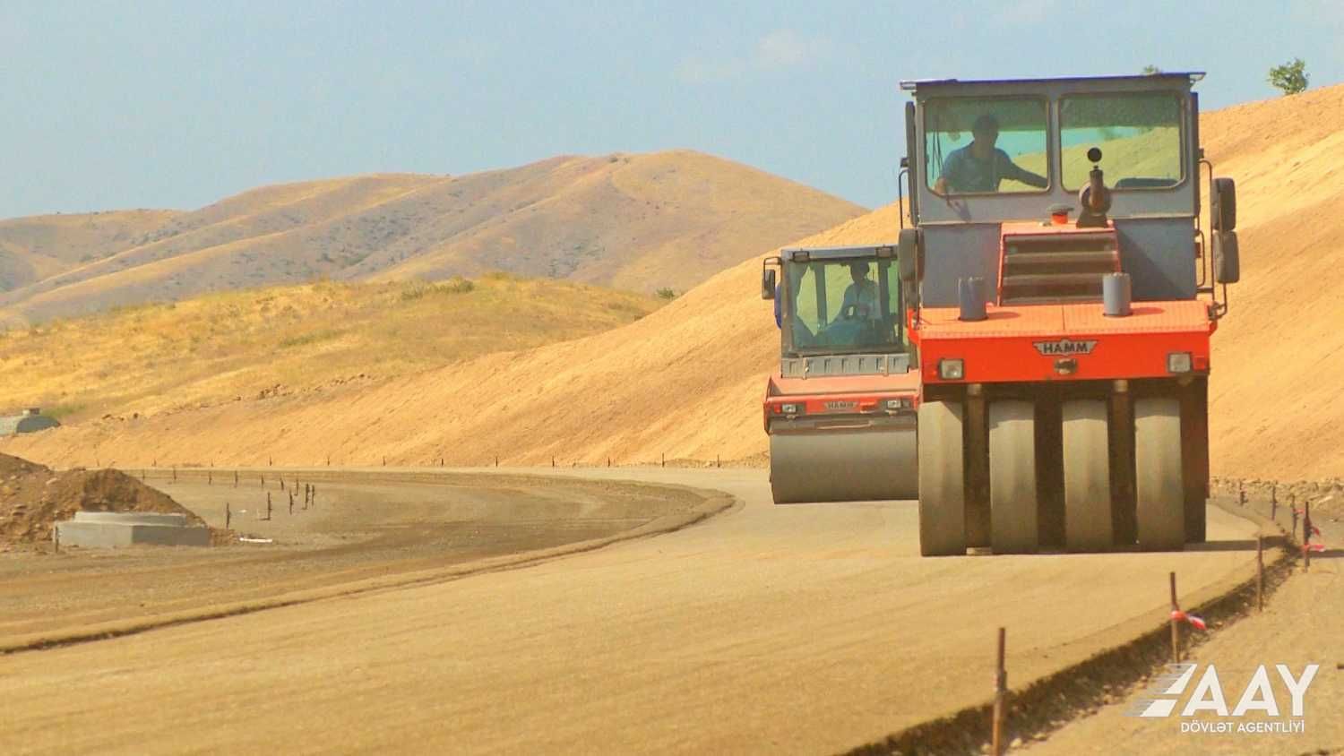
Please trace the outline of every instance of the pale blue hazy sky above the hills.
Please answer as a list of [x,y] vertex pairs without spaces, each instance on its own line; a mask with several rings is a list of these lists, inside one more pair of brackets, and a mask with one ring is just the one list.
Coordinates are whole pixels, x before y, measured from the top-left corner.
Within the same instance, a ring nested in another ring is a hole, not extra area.
[[1206,110],[1294,56],[1344,81],[1344,0],[718,5],[0,0],[0,218],[667,148],[875,207],[903,78],[1152,63],[1207,70]]

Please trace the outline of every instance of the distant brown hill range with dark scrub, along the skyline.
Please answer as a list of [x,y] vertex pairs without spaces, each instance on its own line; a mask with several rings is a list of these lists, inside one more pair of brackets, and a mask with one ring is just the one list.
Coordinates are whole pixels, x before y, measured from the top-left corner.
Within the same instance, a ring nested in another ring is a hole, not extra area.
[[688,150],[285,184],[194,212],[0,223],[0,324],[316,278],[504,271],[681,291],[862,212]]

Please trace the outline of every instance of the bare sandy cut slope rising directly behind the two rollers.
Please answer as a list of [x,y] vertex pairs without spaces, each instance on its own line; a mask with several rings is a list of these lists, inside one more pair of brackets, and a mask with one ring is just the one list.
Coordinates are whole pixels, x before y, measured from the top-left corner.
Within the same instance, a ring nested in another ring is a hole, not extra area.
[[[1239,188],[1243,278],[1215,334],[1214,467],[1222,475],[1344,471],[1344,86],[1207,113],[1218,173]],[[805,243],[891,240],[883,208]],[[763,251],[763,250],[762,250]],[[625,328],[321,397],[277,397],[15,439],[43,461],[215,459],[310,465],[438,455],[458,463],[617,463],[763,457],[759,400],[777,360],[759,259]],[[333,462],[335,463],[335,462]]]

